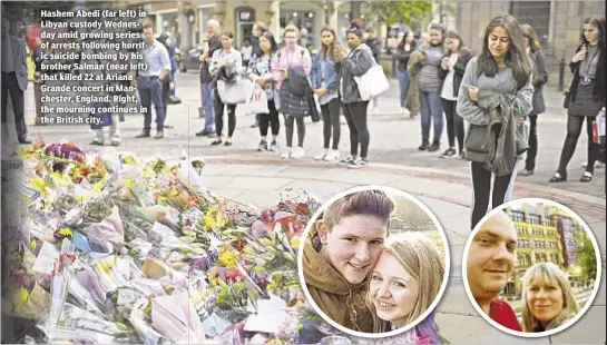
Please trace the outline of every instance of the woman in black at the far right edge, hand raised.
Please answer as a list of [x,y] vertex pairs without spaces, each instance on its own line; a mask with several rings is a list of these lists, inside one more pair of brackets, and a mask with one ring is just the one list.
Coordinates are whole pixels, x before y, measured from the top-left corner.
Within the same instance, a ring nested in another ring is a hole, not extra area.
[[605,109],[605,18],[589,17],[584,21],[581,45],[577,48],[569,67],[574,73],[569,88],[567,111],[567,138],[560,154],[557,172],[550,183],[567,180],[567,165],[574,152],[586,119],[588,134],[588,162],[580,181],[593,180],[595,161],[600,154],[600,146],[593,141],[593,122],[597,114]]

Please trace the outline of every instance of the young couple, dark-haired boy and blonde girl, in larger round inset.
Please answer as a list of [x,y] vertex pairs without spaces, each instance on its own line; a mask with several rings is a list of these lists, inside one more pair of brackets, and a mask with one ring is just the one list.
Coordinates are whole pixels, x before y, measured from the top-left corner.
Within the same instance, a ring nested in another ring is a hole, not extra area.
[[[381,190],[346,195],[324,210],[304,245],[310,297],[343,327],[361,333],[399,329],[425,313],[439,294],[444,257],[420,233],[386,240],[393,209]],[[433,312],[415,331],[418,338],[441,343]]]

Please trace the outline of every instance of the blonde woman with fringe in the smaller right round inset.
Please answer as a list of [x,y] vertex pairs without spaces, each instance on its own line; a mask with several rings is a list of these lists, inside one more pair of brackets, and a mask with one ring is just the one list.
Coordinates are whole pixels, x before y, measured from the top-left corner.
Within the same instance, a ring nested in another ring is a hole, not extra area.
[[522,278],[522,329],[527,333],[555,329],[579,312],[565,273],[552,263],[527,269]]

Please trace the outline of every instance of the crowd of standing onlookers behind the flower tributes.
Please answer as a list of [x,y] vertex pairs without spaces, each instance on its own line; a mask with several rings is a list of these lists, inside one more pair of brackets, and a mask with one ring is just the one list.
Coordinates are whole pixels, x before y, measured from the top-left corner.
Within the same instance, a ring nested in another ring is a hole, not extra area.
[[[233,32],[222,31],[215,19],[206,22],[199,58],[204,126],[196,136],[211,137],[213,146],[233,144],[236,106],[249,106],[243,82],[246,79],[263,90],[257,96],[266,102],[264,110],[257,111],[254,125],[260,130],[257,150],[276,151],[283,159],[305,157],[305,118],[310,117],[323,121],[322,148],[319,142],[315,159],[349,168],[368,166],[368,109],[369,102],[375,108],[378,100],[362,97],[358,80],[379,63],[381,40],[374,30],[364,28],[361,20],[352,21],[346,30],[347,47],[343,47],[335,30],[325,27],[314,57],[300,45],[295,26],[282,30],[281,46],[263,22],[255,23],[252,33],[243,58],[234,47]],[[151,137],[154,105],[155,138],[161,139],[170,100],[167,89],[175,89],[173,77],[177,67],[170,58],[172,46],[155,38],[151,24],[144,27],[143,38],[147,42],[141,50],[144,62],[150,68],[137,71],[137,85],[141,106],[148,111],[137,137]],[[572,78],[564,105],[568,109],[567,137],[550,183],[567,180],[567,166],[585,120],[588,159],[580,181],[591,181],[596,162],[605,161],[604,147],[601,150],[593,135],[597,115],[605,111],[605,19],[587,18],[580,45],[570,60]],[[519,169],[523,176],[536,169],[537,118],[546,110],[542,90],[548,72],[533,28],[520,24],[509,14],[498,16],[483,31],[482,49],[474,57],[457,31],[433,23],[419,42],[412,31],[404,32],[395,58],[403,116],[420,118],[419,150],[441,150],[447,127],[448,147],[440,157],[471,161],[473,228],[490,208],[490,199],[493,208],[510,199]],[[350,136],[346,157],[340,157],[341,114]],[[4,118],[3,105],[3,121]],[[281,122],[285,128],[284,145],[280,139]],[[112,142],[119,145],[117,140]]]

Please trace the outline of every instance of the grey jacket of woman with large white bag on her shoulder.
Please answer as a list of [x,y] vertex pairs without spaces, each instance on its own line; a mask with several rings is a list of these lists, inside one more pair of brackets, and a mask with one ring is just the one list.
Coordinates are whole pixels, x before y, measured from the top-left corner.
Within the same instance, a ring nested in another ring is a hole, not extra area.
[[340,96],[343,103],[363,101],[354,77],[361,77],[375,65],[373,52],[362,43],[347,55],[340,68]]

